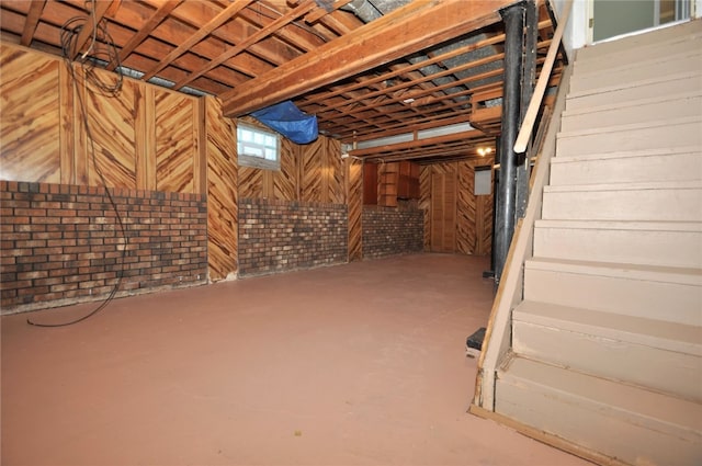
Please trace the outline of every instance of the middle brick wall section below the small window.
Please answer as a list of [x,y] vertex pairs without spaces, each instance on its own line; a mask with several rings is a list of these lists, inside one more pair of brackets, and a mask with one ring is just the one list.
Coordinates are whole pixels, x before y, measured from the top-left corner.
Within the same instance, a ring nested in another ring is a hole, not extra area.
[[348,262],[344,204],[239,200],[239,275]]

